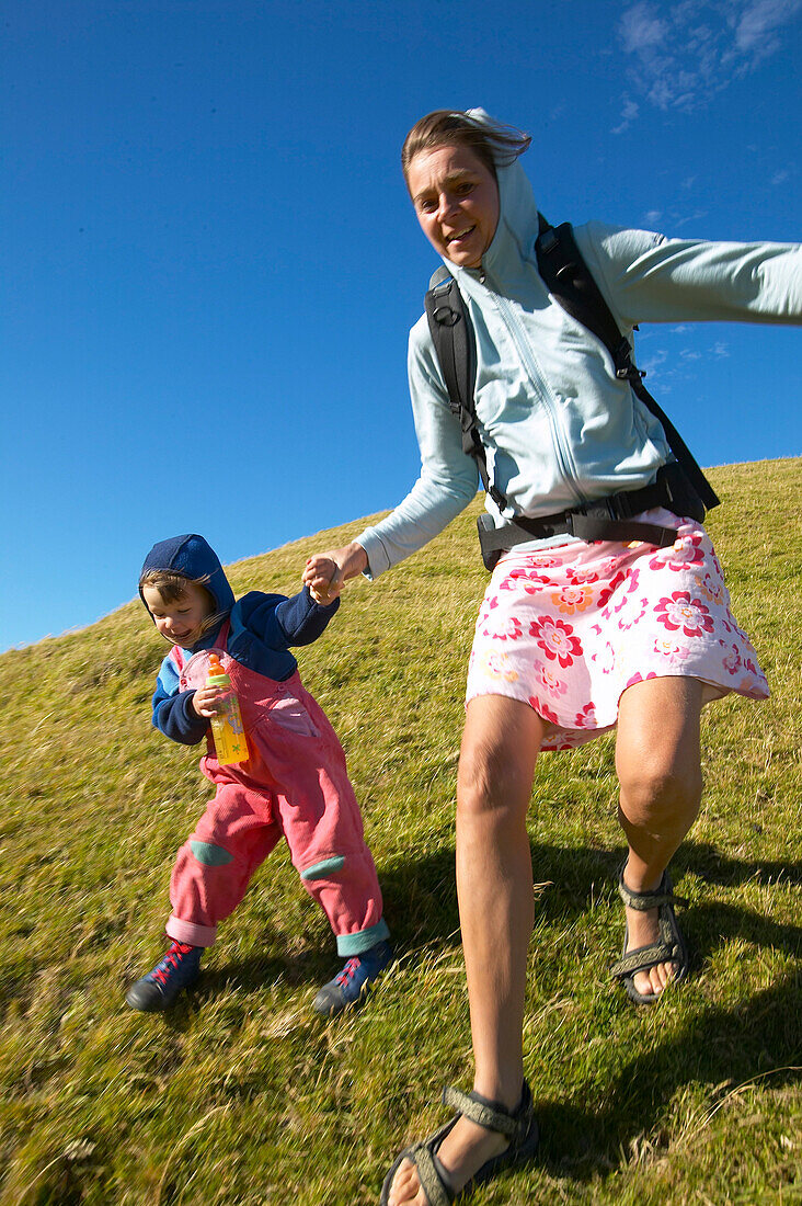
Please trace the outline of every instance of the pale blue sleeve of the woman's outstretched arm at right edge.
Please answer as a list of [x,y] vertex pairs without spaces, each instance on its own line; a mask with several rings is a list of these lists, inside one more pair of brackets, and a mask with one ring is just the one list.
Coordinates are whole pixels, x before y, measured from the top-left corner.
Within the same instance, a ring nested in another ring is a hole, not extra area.
[[590,222],[575,232],[625,326],[639,322],[802,323],[802,247],[703,242]]

